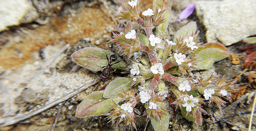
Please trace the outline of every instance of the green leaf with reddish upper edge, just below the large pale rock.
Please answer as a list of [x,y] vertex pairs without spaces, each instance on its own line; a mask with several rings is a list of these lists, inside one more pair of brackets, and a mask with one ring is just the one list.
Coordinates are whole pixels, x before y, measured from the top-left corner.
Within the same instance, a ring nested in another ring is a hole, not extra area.
[[[210,44],[211,45],[211,44]],[[197,52],[194,58],[197,58],[199,61],[196,62],[195,68],[197,69],[208,69],[212,66],[213,63],[223,60],[226,57],[230,56],[229,52],[227,51],[226,47],[223,49],[221,46],[219,48],[206,48],[207,46],[203,47],[205,49]]]

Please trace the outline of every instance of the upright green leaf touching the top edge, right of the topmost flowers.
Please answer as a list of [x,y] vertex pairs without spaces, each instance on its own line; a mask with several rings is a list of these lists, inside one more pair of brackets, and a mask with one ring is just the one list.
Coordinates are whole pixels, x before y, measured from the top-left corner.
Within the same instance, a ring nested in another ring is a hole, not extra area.
[[157,36],[160,37],[160,34],[163,34],[163,31],[166,30],[166,28],[169,25],[169,21],[172,17],[172,1],[171,0],[153,0],[153,7],[157,7],[157,9],[166,9],[166,11],[163,12],[163,18],[166,20],[164,23],[157,26]]

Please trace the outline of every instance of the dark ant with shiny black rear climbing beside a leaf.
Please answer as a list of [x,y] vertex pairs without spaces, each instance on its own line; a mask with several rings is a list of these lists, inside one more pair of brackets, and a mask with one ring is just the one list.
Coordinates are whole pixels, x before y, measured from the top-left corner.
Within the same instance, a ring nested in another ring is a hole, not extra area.
[[[109,54],[109,53],[108,53]],[[107,57],[107,60],[108,60],[108,54],[106,54],[106,57]],[[119,62],[121,62],[122,60],[116,62],[116,63],[113,63],[111,64],[112,62],[116,61],[117,60],[117,56],[115,54],[112,54],[110,57],[109,57],[110,60],[108,60],[108,65],[107,66],[103,66],[102,68],[104,68],[104,70],[102,71],[102,74],[99,75],[99,78],[100,80],[102,80],[103,82],[105,82],[108,77],[110,77],[110,69],[113,70],[113,68],[111,67],[113,64],[117,64]],[[114,70],[113,70],[114,71]]]

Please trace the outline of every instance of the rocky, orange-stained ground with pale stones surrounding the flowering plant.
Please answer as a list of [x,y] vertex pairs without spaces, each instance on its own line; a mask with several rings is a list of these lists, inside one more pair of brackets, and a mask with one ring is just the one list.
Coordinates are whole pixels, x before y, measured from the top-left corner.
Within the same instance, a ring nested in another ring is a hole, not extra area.
[[[122,122],[117,128],[111,126],[105,116],[74,117],[76,106],[84,97],[105,83],[92,82],[99,73],[84,68],[71,71],[74,64],[70,55],[87,46],[112,50],[111,43],[107,42],[119,23],[113,16],[120,6],[107,0],[9,1],[0,1],[0,131],[50,131],[52,127],[55,131],[134,131],[132,127],[124,128]],[[186,20],[177,21],[180,11],[190,3],[196,5],[194,13]],[[143,0],[141,4],[142,12],[151,8],[152,1]],[[17,11],[12,11],[17,6]],[[234,65],[232,58],[224,59],[208,70],[190,75],[198,77],[214,71],[233,80],[244,70],[241,63],[247,55],[238,50],[245,45],[241,39],[256,35],[255,9],[256,3],[250,0],[174,0],[164,39],[171,40],[180,27],[197,21],[201,41],[223,43],[230,53],[239,56],[240,64]],[[138,28],[136,24],[133,26]],[[203,115],[203,126],[199,126],[183,118],[177,109],[170,120],[169,131],[246,131],[255,91],[255,83],[248,81],[249,74],[245,71],[236,85],[239,91],[243,90],[233,101],[241,101],[224,114],[219,114],[215,105],[204,105],[210,115]],[[118,77],[118,72],[112,77]],[[76,90],[81,87],[86,89]],[[38,113],[25,119],[24,114],[29,116],[36,111]],[[16,121],[22,118],[24,120]],[[221,121],[212,123],[219,119]],[[145,117],[136,121],[137,130],[144,131]],[[252,129],[256,131],[255,121]],[[153,128],[149,124],[146,130],[153,131]]]

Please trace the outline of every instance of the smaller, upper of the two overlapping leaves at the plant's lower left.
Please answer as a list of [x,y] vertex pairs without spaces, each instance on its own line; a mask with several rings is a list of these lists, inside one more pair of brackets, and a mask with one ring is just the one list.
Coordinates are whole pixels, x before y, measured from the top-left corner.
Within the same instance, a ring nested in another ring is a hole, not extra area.
[[119,77],[111,81],[105,88],[103,97],[104,98],[114,98],[119,95],[119,92],[123,90],[128,91],[130,89],[131,83],[133,83],[132,78]]

